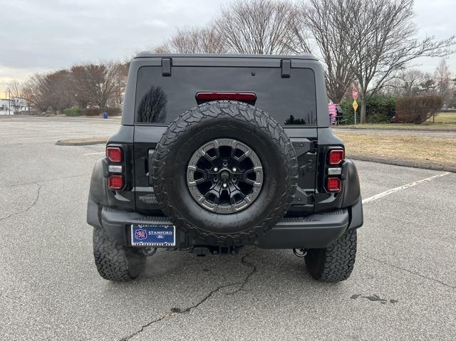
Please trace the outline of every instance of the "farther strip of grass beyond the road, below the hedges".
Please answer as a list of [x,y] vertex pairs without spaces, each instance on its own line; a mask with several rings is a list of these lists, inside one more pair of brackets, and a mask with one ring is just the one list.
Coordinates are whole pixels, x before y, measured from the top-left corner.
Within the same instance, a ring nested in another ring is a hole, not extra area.
[[420,125],[410,125],[406,123],[383,123],[383,124],[364,124],[364,125],[338,125],[338,128],[355,129],[388,129],[388,130],[446,130],[456,131],[456,112],[442,112],[435,116],[435,123],[432,117]]

